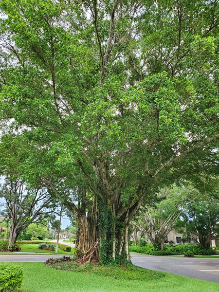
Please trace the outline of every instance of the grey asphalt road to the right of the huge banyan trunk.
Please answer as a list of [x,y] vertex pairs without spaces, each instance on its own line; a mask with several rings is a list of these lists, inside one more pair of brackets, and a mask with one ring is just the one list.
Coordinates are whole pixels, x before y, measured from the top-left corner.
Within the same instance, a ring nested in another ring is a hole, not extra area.
[[131,255],[134,265],[219,283],[219,258]]

